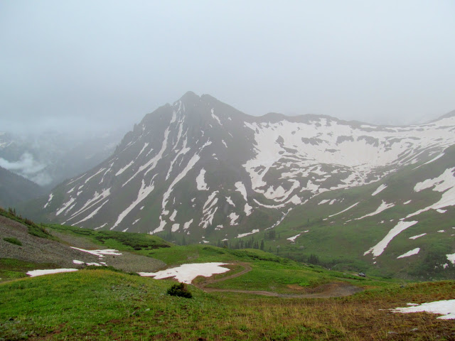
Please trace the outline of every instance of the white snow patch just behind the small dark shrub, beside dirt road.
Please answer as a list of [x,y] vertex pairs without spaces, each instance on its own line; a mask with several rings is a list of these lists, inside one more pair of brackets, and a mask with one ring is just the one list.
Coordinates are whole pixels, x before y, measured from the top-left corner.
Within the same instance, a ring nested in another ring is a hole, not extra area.
[[223,268],[222,265],[226,265],[226,263],[183,264],[176,268],[158,272],[139,272],[139,275],[154,277],[155,279],[174,277],[179,282],[191,284],[191,281],[197,276],[210,277],[214,274],[223,274],[224,272],[229,271],[228,268]]

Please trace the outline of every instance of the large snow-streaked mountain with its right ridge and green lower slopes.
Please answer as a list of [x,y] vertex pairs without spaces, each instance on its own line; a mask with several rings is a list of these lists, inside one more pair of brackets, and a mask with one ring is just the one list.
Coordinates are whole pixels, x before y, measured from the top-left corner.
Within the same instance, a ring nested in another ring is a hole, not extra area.
[[[348,255],[394,272],[406,272],[411,256],[428,261],[437,240],[431,262],[445,276],[455,261],[454,144],[453,114],[414,126],[252,117],[188,92],[28,212],[192,243],[267,239],[273,230],[279,237],[267,246],[296,258],[311,252],[343,263]],[[405,230],[427,236],[401,241]]]

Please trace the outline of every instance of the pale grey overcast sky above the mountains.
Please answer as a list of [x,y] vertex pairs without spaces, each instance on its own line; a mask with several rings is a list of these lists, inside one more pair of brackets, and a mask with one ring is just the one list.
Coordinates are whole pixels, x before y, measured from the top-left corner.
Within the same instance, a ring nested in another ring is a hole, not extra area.
[[246,114],[455,109],[455,1],[0,1],[0,131],[132,127],[188,90]]

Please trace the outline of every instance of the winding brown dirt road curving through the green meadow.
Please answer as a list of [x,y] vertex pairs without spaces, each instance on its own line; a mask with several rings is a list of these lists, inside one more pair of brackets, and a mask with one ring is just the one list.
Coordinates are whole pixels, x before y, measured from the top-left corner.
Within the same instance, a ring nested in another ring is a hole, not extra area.
[[[252,270],[251,266],[247,263],[237,263],[237,265],[243,266],[243,270],[237,274],[226,276],[223,278],[210,279],[208,278],[204,283],[196,284],[198,288],[203,289],[207,293],[250,293],[253,295],[262,295],[262,296],[273,296],[280,298],[331,298],[331,297],[342,297],[350,296],[354,293],[363,291],[363,288],[358,286],[351,286],[345,282],[333,282],[328,284],[323,284],[316,288],[307,289],[307,293],[274,293],[272,291],[250,291],[250,290],[235,290],[235,289],[219,289],[219,288],[206,288],[208,284],[218,283],[221,281],[227,281],[228,279],[235,278],[247,274]],[[309,292],[311,291],[311,292]]]

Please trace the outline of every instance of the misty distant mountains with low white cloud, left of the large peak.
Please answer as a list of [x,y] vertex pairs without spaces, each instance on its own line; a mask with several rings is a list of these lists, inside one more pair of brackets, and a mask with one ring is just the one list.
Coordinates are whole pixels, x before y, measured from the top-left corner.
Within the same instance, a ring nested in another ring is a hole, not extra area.
[[123,134],[121,130],[107,133],[1,132],[0,167],[33,181],[43,190],[50,190],[107,158]]

